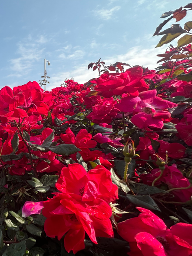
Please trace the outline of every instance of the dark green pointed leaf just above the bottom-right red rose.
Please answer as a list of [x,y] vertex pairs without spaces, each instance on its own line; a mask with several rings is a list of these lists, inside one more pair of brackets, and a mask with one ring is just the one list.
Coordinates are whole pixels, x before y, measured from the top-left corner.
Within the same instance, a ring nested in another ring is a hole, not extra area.
[[156,202],[151,198],[151,196],[133,196],[126,194],[126,198],[129,200],[130,203],[134,204],[135,206],[143,207],[148,210],[160,211],[159,207],[157,206]]

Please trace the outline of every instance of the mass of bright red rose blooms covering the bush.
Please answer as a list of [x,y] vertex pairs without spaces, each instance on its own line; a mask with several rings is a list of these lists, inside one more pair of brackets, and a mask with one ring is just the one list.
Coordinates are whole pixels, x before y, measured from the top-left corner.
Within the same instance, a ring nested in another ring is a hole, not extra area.
[[[168,76],[135,66],[122,73],[106,72],[84,85],[67,80],[51,92],[43,92],[36,82],[0,90],[1,168],[17,176],[32,170],[36,177],[59,176],[58,192],[31,212],[43,208],[46,235],[61,239],[66,234],[68,252],[84,249],[85,232],[93,243],[96,236],[113,237],[109,204],[118,199],[118,184],[129,183],[125,176],[119,182],[119,175],[117,187],[110,169],[114,160],[124,160],[122,149],[130,144],[129,136],[137,144],[132,150],[137,154],[128,155],[136,160],[135,181],[168,190],[168,203],[191,200],[191,174],[184,176],[178,165],[191,153],[186,148],[192,146],[192,107],[184,100],[192,97],[192,82],[166,80]],[[177,96],[184,100],[175,101]],[[162,132],[176,135],[163,137]],[[63,145],[73,150],[63,153]],[[153,170],[142,173],[148,162]],[[192,255],[187,236],[192,225],[178,223],[168,229],[151,211],[137,209],[142,212],[138,217],[117,225],[130,244],[130,256]],[[29,211],[23,214],[29,216]]]

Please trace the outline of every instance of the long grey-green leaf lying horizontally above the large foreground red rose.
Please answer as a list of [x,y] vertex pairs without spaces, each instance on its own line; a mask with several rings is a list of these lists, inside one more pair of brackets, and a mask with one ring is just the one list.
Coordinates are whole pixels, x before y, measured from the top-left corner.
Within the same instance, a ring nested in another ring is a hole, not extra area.
[[49,147],[49,150],[51,150],[53,153],[56,153],[62,156],[69,156],[78,151],[81,151],[73,144],[60,144],[57,146]]

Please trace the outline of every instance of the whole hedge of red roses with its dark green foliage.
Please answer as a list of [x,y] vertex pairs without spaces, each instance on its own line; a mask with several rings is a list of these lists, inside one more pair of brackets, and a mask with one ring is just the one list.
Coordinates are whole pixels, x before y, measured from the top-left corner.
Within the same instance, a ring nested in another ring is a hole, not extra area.
[[0,90],[1,255],[192,255],[192,63],[171,64]]

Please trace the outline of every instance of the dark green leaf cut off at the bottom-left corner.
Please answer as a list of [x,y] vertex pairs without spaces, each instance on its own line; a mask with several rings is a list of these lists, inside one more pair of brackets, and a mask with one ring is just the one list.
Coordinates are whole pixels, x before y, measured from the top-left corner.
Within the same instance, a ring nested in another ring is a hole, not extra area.
[[23,256],[26,251],[26,242],[21,241],[20,243],[12,243],[4,251],[2,256]]

